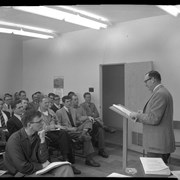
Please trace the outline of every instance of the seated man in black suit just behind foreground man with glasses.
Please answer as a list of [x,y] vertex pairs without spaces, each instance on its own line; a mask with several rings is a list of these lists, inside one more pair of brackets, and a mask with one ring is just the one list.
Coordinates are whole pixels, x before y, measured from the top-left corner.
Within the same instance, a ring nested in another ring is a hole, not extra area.
[[23,127],[21,120],[24,109],[20,99],[12,103],[12,109],[14,112],[13,116],[7,121],[9,136]]

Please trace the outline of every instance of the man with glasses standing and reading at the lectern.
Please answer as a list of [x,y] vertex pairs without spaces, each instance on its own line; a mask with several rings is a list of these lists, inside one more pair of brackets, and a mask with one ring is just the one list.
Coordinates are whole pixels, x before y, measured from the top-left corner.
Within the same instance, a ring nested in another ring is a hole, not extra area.
[[132,112],[130,117],[143,123],[143,146],[147,157],[161,157],[167,164],[175,151],[173,131],[173,98],[161,84],[157,71],[145,74],[144,83],[152,92],[142,112]]

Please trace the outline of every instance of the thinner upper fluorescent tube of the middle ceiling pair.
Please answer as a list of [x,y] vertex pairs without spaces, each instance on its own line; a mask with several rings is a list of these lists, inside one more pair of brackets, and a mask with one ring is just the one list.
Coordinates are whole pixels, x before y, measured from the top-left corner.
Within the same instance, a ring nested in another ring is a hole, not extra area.
[[80,13],[80,14],[83,14],[85,16],[89,16],[89,17],[92,17],[92,18],[95,18],[97,20],[102,20],[102,21],[108,21],[106,18],[104,17],[101,17],[101,16],[97,16],[95,14],[92,14],[92,13],[89,13],[89,12],[86,12],[86,11],[82,11],[82,10],[78,10],[76,8],[72,8],[70,6],[57,6],[57,7],[60,7],[60,8],[63,8],[63,9],[67,9],[67,10],[71,10],[71,11],[74,11],[74,12],[77,12],[77,13]]

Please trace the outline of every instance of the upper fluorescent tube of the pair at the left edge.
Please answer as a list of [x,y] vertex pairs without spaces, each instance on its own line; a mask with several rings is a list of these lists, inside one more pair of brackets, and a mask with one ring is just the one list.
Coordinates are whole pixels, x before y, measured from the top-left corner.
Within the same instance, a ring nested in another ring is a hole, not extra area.
[[11,23],[11,22],[6,22],[6,21],[0,21],[0,25],[25,28],[25,29],[30,29],[30,30],[40,31],[40,32],[46,32],[46,33],[53,33],[53,31],[49,30],[49,29],[33,27],[33,26],[26,26],[26,25],[23,25],[23,24],[16,24],[16,23]]

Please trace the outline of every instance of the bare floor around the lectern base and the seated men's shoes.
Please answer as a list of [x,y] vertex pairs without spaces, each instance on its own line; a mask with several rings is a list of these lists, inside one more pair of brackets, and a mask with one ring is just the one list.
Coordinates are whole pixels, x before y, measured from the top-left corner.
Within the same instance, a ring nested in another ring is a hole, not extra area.
[[[84,158],[76,157],[75,166],[81,170],[80,175],[75,177],[107,177],[109,174],[116,172],[122,174],[122,131],[115,133],[105,133],[106,150],[109,158],[103,158],[95,153],[94,159],[101,164],[101,167],[89,167],[84,164]],[[128,151],[127,167],[136,168],[137,162],[140,163],[139,157],[141,153],[135,151]],[[171,158],[170,168],[173,170],[180,170],[180,161]]]

